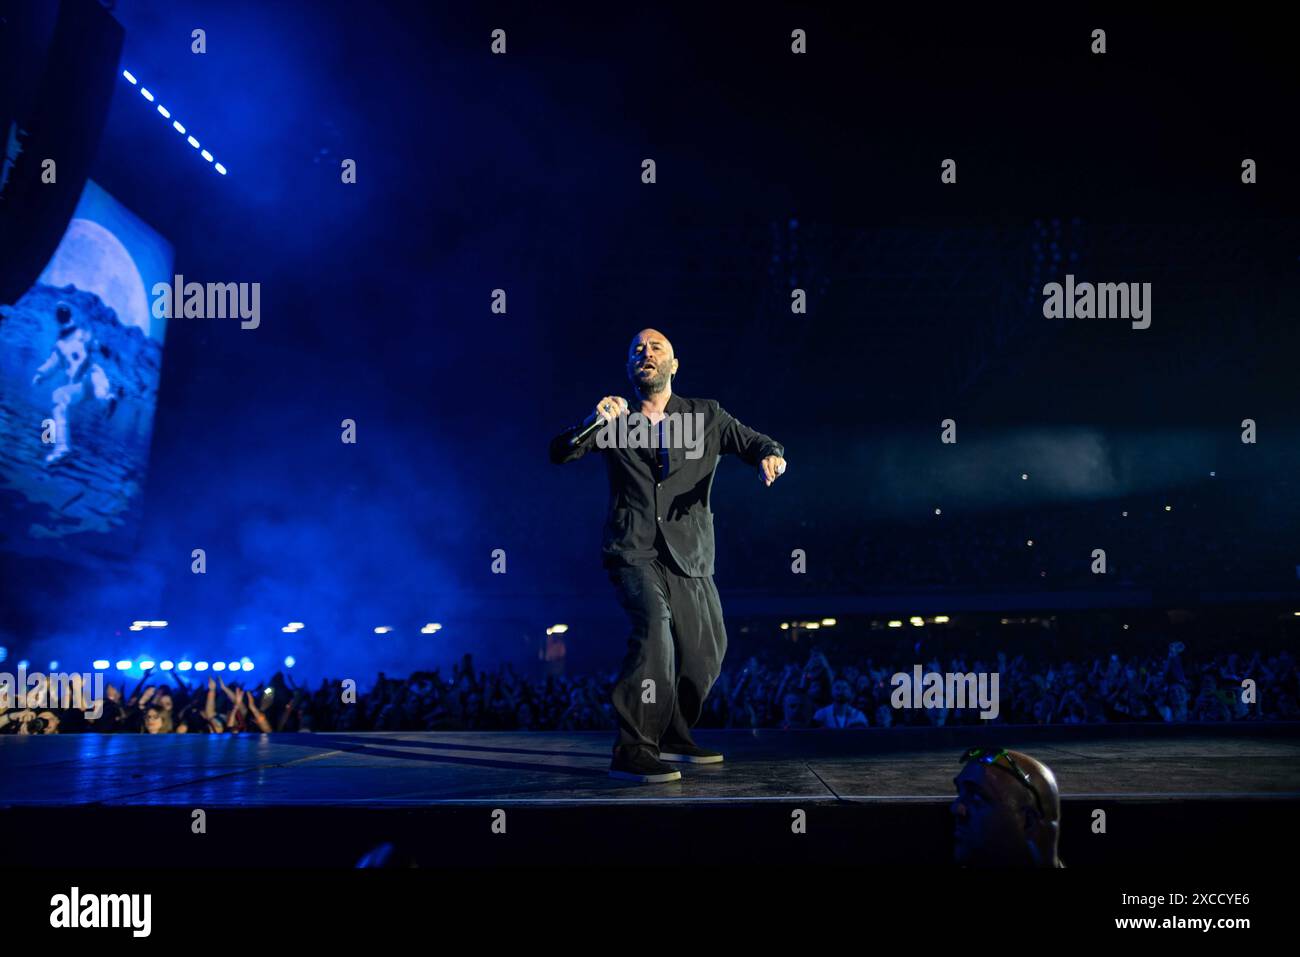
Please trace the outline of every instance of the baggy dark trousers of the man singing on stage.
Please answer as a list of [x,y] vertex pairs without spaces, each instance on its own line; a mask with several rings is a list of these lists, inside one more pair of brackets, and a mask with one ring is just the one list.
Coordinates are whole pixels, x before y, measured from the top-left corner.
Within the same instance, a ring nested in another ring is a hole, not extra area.
[[632,624],[614,685],[615,748],[644,746],[658,755],[660,745],[694,744],[690,729],[727,653],[718,588],[712,577],[682,575],[671,557],[608,571]]

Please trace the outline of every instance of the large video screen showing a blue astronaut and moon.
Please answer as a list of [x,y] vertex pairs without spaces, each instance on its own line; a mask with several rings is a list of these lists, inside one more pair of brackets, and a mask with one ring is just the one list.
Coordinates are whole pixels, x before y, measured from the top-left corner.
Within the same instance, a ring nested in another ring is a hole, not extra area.
[[172,277],[155,229],[86,181],[62,239],[0,303],[0,550],[129,554],[142,512]]

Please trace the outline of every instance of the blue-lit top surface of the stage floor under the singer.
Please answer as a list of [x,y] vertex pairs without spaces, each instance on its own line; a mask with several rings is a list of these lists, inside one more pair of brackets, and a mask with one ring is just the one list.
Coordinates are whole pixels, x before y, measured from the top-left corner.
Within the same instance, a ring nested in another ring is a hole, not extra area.
[[[1045,761],[1066,802],[1300,797],[1300,728],[1173,731],[1008,728],[997,740]],[[607,776],[607,732],[0,736],[0,807],[935,804],[953,797],[962,748],[987,736],[701,731],[727,762],[656,785]]]

